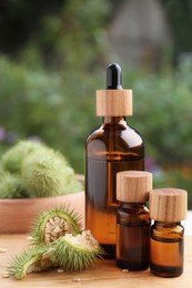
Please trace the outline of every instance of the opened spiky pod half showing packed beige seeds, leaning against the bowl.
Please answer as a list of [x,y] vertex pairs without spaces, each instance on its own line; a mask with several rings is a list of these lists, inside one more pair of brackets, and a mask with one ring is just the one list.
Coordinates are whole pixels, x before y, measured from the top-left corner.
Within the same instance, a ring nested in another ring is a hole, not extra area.
[[81,218],[69,208],[42,212],[31,232],[33,245],[51,245],[61,236],[81,233]]

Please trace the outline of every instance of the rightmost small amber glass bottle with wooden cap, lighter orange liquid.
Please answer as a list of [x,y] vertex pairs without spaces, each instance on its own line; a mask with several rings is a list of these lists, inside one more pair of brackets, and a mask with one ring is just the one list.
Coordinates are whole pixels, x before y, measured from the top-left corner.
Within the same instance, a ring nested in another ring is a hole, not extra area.
[[184,228],[188,193],[176,188],[150,192],[151,270],[162,277],[176,277],[183,272]]

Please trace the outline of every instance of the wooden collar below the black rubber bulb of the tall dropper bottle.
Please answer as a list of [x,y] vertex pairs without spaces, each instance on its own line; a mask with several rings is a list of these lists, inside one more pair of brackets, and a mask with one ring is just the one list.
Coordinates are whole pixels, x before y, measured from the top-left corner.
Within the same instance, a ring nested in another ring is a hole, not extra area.
[[98,116],[131,116],[132,90],[97,90]]

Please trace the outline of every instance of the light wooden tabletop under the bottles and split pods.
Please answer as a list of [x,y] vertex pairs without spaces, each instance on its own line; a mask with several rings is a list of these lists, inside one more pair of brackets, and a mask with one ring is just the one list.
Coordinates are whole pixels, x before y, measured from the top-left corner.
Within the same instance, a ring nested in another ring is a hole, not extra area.
[[[28,246],[28,235],[0,235],[0,248],[8,251],[0,253],[0,275],[7,269],[12,255],[20,253]],[[23,280],[0,277],[0,288],[48,288],[48,287],[120,287],[145,288],[154,287],[190,287],[192,286],[192,237],[185,237],[184,274],[176,278],[160,278],[153,276],[150,270],[138,272],[123,272],[113,260],[99,260],[89,270],[82,272],[57,272],[57,270],[30,274]]]

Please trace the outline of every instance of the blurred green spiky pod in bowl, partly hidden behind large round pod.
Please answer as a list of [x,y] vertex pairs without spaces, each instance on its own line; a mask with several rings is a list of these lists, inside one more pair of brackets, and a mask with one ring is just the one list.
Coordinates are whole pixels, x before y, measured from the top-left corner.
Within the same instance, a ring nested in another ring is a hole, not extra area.
[[20,141],[8,150],[1,158],[4,169],[20,174],[23,160],[32,152],[46,146],[34,141]]

